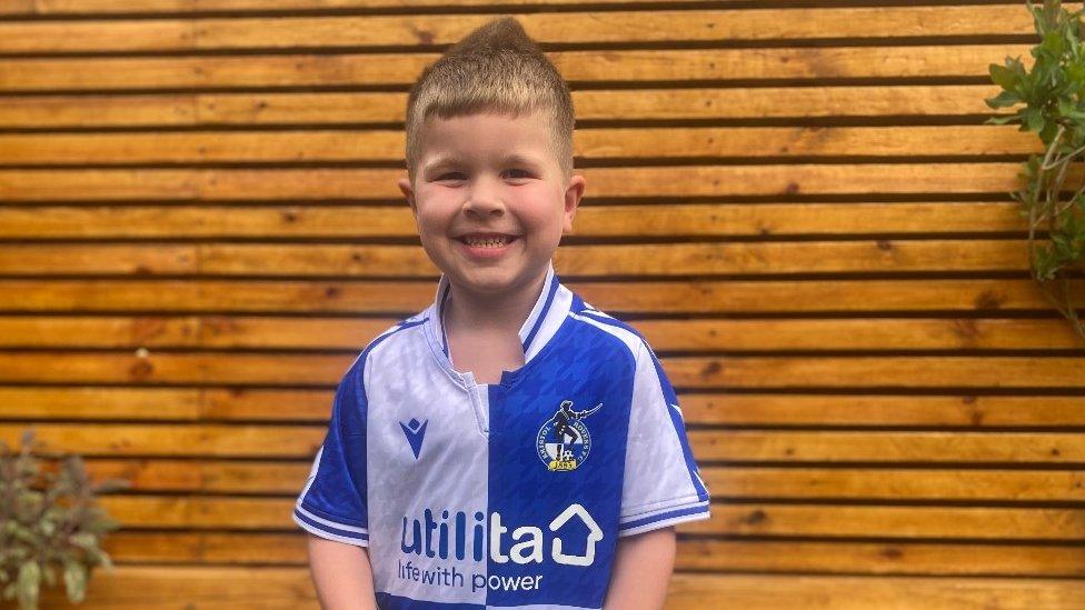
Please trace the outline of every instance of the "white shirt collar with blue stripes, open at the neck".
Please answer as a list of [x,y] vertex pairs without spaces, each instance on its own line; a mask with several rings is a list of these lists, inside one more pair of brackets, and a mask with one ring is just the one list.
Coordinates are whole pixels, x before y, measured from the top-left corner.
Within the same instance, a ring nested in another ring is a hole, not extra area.
[[[448,337],[445,333],[445,308],[450,296],[450,283],[442,273],[437,282],[437,294],[429,308],[427,318],[434,329],[438,344],[448,357]],[[542,291],[535,300],[535,307],[520,326],[520,344],[524,347],[524,362],[531,360],[549,342],[573,306],[573,291],[561,284],[554,272],[553,261],[547,266]]]

